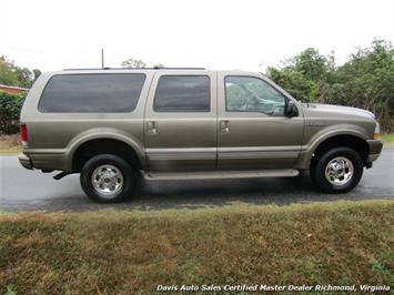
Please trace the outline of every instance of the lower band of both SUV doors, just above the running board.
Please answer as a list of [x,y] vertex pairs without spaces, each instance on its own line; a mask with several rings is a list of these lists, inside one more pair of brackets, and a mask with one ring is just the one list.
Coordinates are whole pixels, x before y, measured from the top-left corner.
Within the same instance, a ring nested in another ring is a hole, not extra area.
[[[171,173],[189,171],[201,171],[202,173],[209,171],[236,171],[244,174],[243,171],[274,170],[276,171],[274,175],[276,175],[280,170],[292,169],[299,154],[299,146],[176,148],[145,150],[147,170]],[[236,177],[236,173],[232,174]],[[253,174],[252,172],[252,175]],[[284,173],[285,176],[287,174],[287,172]]]

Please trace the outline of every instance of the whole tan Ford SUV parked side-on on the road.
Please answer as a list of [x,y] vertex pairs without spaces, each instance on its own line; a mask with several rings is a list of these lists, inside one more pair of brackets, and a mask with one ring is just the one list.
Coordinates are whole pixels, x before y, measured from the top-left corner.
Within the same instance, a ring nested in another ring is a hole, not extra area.
[[101,202],[150,180],[296,176],[345,193],[382,150],[365,110],[301,103],[259,73],[65,70],[40,75],[21,113],[20,163],[80,173]]

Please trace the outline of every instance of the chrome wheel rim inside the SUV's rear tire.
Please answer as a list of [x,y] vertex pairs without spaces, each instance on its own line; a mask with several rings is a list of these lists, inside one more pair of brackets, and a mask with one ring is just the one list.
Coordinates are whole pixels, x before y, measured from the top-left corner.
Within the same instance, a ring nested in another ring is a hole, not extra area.
[[92,185],[104,199],[114,197],[123,186],[123,174],[113,165],[100,165],[92,173]]

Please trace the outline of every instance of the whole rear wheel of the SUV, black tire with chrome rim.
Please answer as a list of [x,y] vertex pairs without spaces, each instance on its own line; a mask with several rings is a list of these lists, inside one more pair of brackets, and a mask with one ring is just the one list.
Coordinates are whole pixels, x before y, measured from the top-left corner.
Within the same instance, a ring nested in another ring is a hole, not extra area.
[[128,162],[112,154],[95,155],[82,167],[83,192],[100,203],[115,203],[132,195],[135,173]]

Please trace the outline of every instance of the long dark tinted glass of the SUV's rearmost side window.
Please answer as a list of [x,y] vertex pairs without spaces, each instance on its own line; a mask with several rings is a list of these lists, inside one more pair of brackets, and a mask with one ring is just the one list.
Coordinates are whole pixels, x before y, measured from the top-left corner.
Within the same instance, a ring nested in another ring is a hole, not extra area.
[[41,112],[131,112],[141,94],[144,74],[62,74],[52,77],[40,100]]

